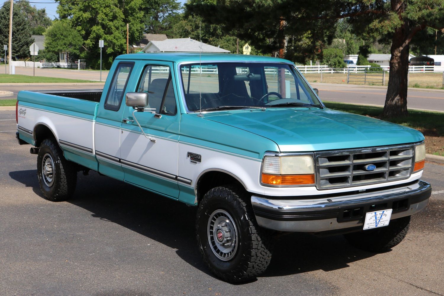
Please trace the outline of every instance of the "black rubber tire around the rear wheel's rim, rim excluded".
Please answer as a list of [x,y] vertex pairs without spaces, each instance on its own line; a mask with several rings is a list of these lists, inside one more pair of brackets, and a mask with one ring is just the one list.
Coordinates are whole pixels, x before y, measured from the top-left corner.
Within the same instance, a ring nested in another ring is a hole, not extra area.
[[[66,160],[66,158],[63,156],[63,151],[57,144],[56,139],[45,139],[40,144],[40,150],[44,147],[48,147],[51,154],[52,159],[55,162],[56,166],[56,180],[54,180],[54,184],[52,186],[55,186],[52,190],[52,192],[48,192],[44,189],[44,181],[41,180],[41,158],[43,155],[40,155],[37,157],[37,173],[39,178],[39,184],[40,189],[43,192],[43,196],[47,200],[51,201],[64,201],[69,200],[74,191],[75,191],[75,185],[77,183],[77,171],[75,170],[75,164],[72,163],[69,160]],[[39,150],[39,152],[40,152]],[[58,167],[58,168],[57,168]]]

